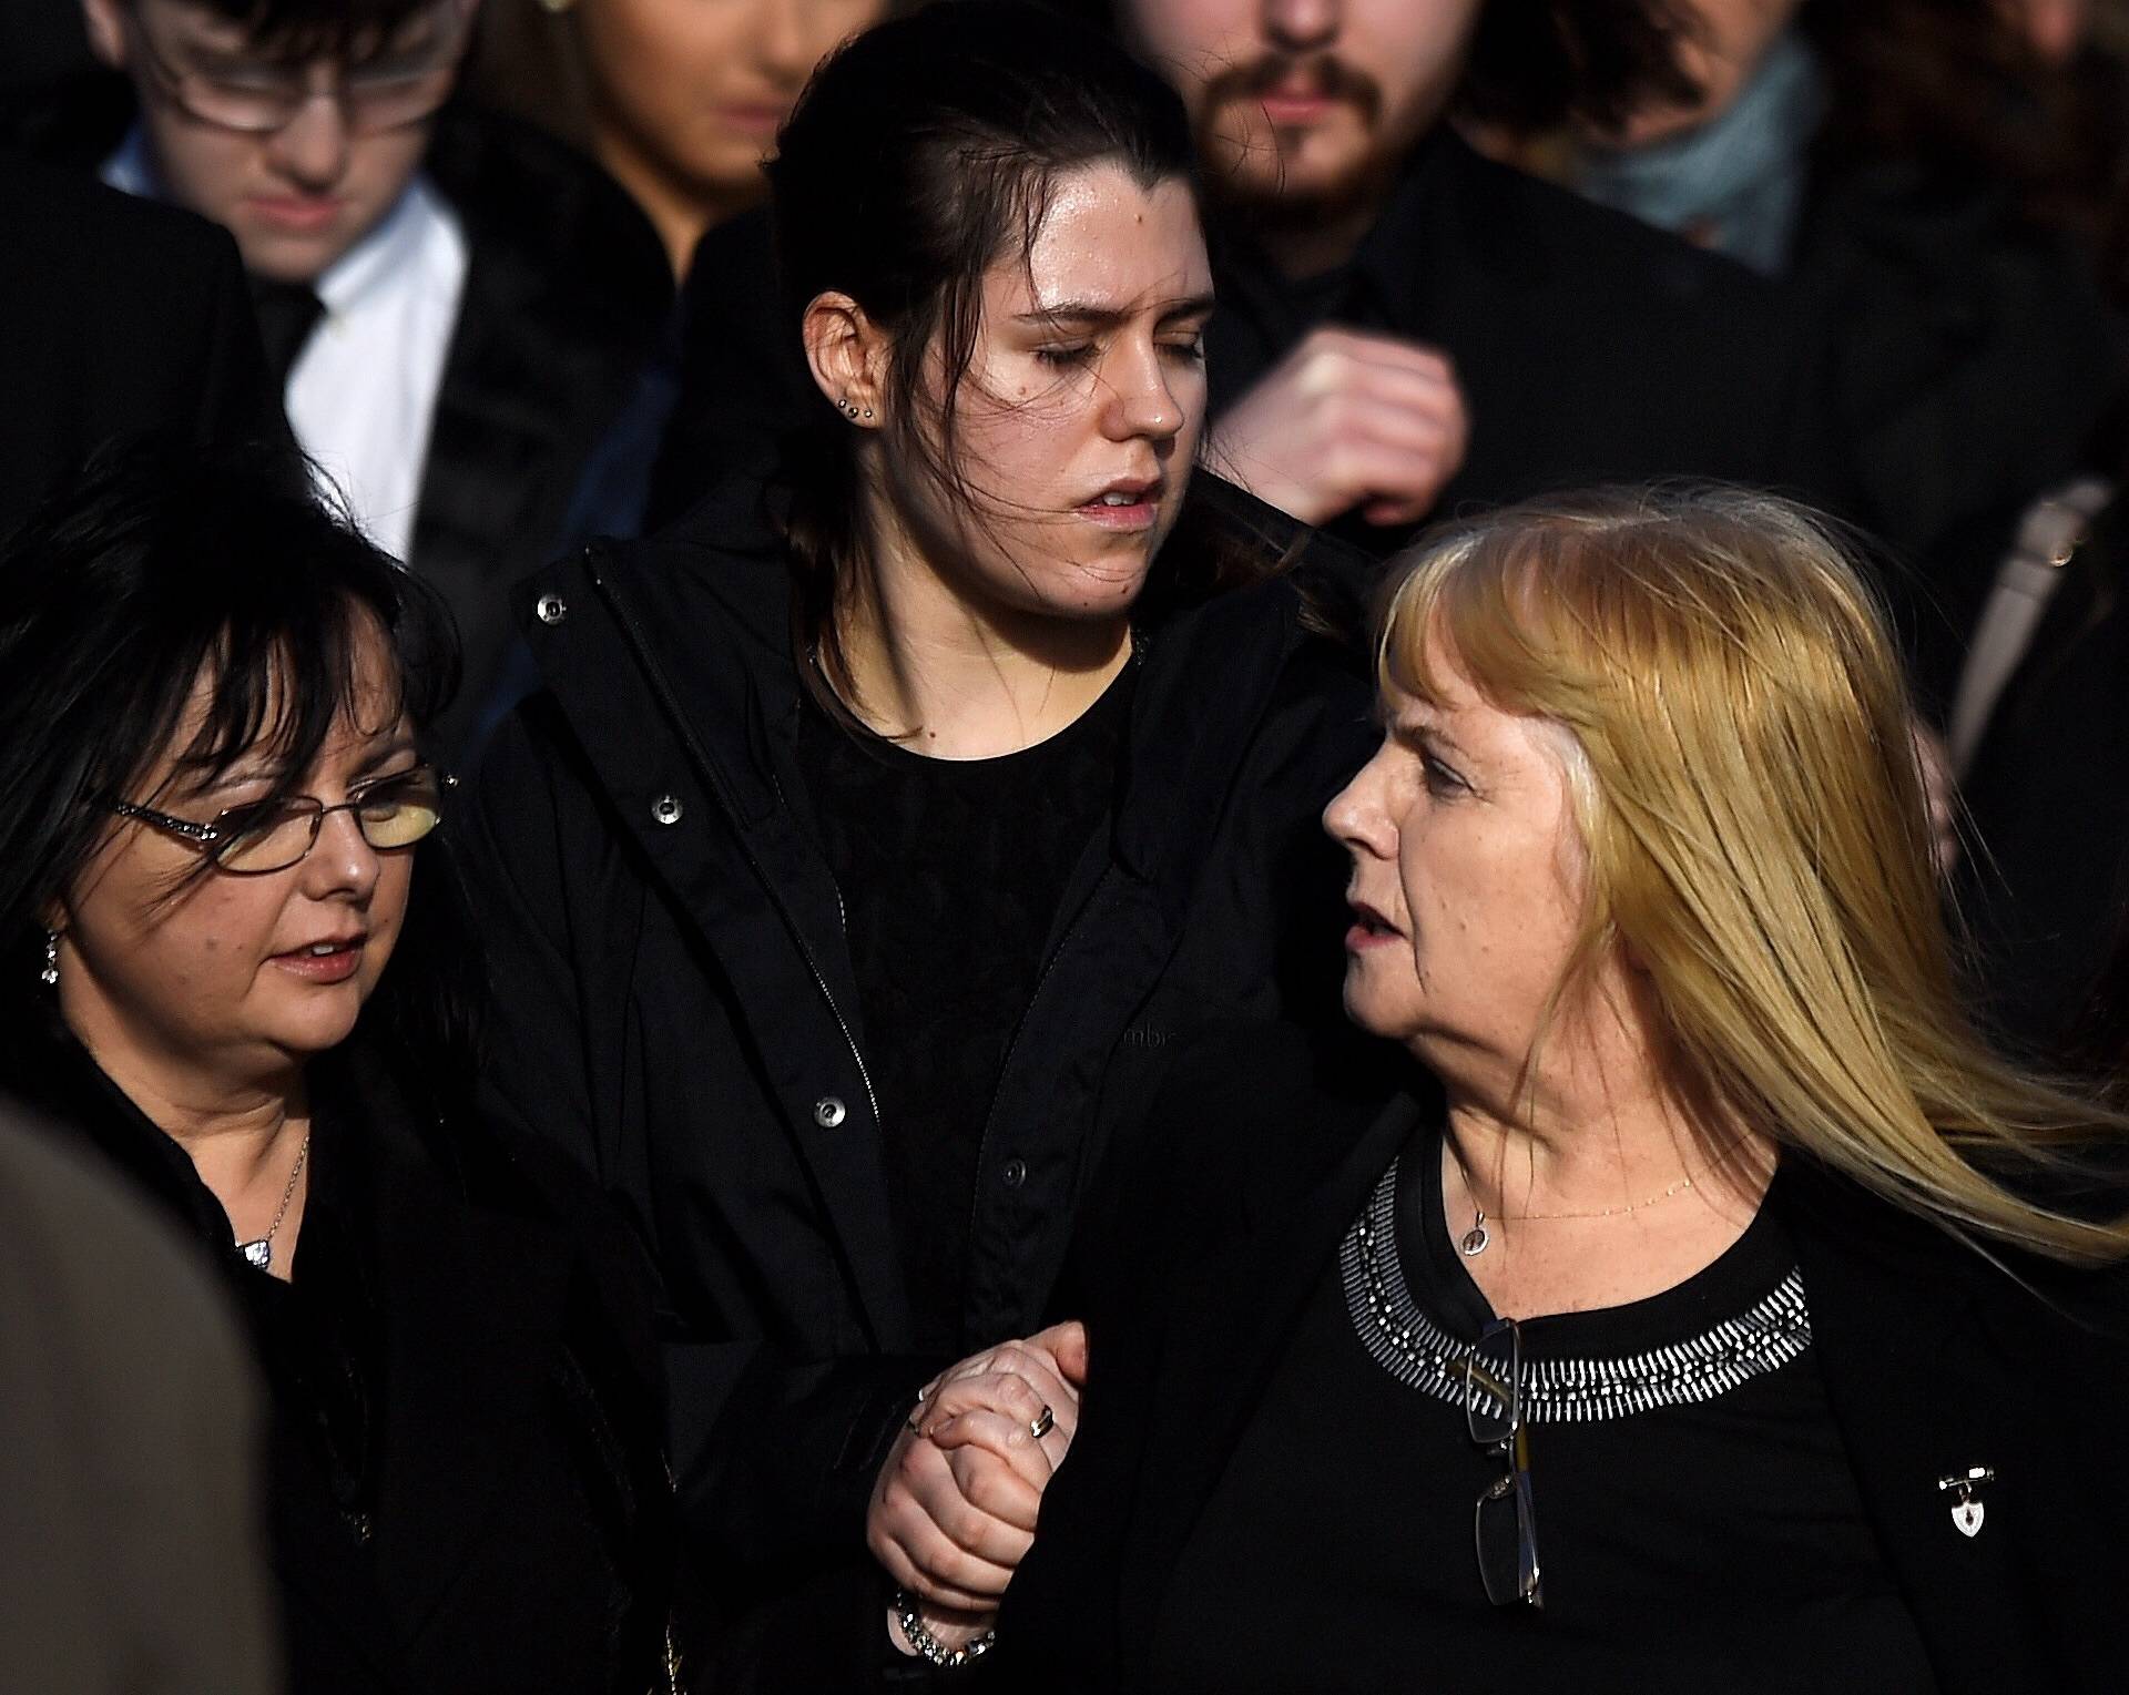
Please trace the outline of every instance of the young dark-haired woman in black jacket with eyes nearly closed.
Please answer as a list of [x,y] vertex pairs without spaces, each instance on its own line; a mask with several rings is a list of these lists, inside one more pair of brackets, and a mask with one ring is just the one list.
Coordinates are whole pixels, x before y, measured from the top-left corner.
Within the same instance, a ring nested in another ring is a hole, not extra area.
[[[1367,690],[1311,632],[1337,562],[1277,573],[1290,526],[1192,479],[1211,283],[1154,77],[933,6],[820,72],[771,192],[818,417],[526,583],[545,688],[475,811],[494,1097],[662,1267],[722,1667],[828,1689],[981,1640],[1079,1367],[999,1344],[1165,1054],[1335,1018],[1314,820]],[[1020,1418],[918,1442],[954,1361]]]

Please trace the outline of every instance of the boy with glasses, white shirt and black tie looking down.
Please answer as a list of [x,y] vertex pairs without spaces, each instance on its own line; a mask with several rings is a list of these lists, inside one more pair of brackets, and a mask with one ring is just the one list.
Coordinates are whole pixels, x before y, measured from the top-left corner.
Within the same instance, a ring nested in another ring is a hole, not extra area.
[[136,117],[117,187],[236,236],[296,439],[451,600],[473,724],[666,305],[656,236],[519,126],[445,115],[479,0],[81,0]]

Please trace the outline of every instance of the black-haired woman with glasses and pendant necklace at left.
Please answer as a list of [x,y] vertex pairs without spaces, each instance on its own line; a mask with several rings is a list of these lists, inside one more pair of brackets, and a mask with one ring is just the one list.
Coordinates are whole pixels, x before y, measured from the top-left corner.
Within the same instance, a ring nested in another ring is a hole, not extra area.
[[453,671],[432,596],[279,456],[136,447],[23,528],[0,1088],[249,1318],[294,1691],[637,1695],[671,1542],[649,1301],[581,1178],[471,1107],[419,752]]

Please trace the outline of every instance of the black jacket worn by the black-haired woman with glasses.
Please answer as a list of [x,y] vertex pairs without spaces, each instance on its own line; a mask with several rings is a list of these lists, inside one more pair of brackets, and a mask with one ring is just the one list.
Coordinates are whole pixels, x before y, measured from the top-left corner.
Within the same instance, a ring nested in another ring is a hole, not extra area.
[[[430,1122],[336,1052],[311,1067],[298,1282],[266,1284],[189,1156],[43,1022],[9,1033],[4,1084],[160,1203],[249,1320],[292,1695],[649,1689],[673,1557],[656,1342],[641,1258],[579,1173]],[[332,1295],[296,1307],[313,1239]],[[347,1348],[290,1322],[321,1312]]]

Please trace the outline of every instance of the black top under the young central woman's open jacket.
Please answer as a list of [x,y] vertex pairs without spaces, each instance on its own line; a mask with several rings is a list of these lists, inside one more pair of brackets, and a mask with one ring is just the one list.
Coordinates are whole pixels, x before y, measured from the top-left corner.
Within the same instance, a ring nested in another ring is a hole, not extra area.
[[[1058,903],[1109,811],[1135,664],[1067,730],[941,760],[807,696],[798,769],[843,901],[918,1346],[960,1352],[984,1126]],[[984,1337],[967,1342],[981,1346]]]

